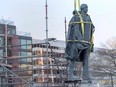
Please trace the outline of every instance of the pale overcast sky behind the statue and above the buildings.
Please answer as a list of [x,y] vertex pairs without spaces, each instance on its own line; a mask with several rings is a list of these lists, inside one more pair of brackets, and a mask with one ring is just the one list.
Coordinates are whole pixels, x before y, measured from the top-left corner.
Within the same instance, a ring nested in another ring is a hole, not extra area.
[[[95,46],[116,36],[116,0],[80,1],[88,4],[95,25]],[[48,0],[49,37],[65,39],[64,18],[68,25],[73,9],[74,0]],[[0,18],[14,21],[18,31],[29,32],[35,39],[46,37],[45,0],[0,0]]]

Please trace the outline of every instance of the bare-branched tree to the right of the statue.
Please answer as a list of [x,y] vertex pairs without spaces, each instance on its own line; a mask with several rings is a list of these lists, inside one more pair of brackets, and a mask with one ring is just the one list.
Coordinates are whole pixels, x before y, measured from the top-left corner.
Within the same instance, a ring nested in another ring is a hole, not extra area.
[[[109,39],[106,44],[101,45],[95,52],[95,56],[91,59],[91,69],[96,76],[106,80],[110,87],[114,87],[114,78],[116,76],[116,37]],[[109,77],[109,78],[108,78]],[[110,82],[109,82],[110,81]]]

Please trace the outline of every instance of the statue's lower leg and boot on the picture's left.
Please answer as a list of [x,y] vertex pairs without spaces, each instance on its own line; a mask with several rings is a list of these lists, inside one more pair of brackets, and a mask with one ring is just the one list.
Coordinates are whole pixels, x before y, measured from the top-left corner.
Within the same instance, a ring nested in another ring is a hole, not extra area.
[[74,64],[75,61],[70,61],[69,65],[68,65],[68,80],[76,80],[76,78],[74,77]]

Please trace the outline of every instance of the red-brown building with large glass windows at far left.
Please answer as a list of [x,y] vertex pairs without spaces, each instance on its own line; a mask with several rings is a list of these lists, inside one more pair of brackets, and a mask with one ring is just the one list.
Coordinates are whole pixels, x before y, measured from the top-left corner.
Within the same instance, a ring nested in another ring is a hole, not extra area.
[[16,75],[32,81],[32,37],[26,34],[17,33],[15,25],[0,24],[0,87],[24,87]]

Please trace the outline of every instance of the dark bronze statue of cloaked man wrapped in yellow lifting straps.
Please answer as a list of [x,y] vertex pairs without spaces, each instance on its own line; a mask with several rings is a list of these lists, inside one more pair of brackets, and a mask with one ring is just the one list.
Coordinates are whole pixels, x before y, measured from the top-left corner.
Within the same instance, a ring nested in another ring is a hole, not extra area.
[[92,34],[95,31],[90,16],[87,14],[88,6],[82,4],[80,11],[73,11],[73,17],[69,22],[65,58],[69,60],[68,80],[74,78],[75,62],[83,64],[83,79],[90,80],[88,69],[88,57],[92,50]]

